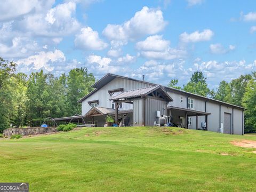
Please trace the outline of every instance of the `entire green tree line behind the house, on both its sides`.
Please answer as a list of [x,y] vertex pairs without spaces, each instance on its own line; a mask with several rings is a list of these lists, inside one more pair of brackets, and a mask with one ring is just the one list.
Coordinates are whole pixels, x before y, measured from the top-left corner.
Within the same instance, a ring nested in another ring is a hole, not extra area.
[[[51,73],[17,73],[16,64],[0,58],[0,132],[10,127],[39,126],[47,117],[81,114],[84,95],[93,90],[95,77],[86,68],[75,68],[55,77]],[[190,81],[177,86],[171,79],[168,86],[245,107],[245,132],[256,132],[256,73],[241,75],[230,83],[221,81],[217,90],[210,90],[201,71]]]

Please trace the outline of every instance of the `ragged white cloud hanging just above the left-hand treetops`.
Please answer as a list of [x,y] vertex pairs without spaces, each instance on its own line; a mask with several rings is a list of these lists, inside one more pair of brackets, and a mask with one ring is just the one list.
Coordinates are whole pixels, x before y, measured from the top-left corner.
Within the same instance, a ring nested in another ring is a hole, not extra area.
[[53,66],[51,66],[51,63],[55,62],[62,62],[65,61],[65,55],[60,50],[54,50],[49,52],[38,52],[35,55],[31,55],[30,57],[26,59],[20,59],[18,61],[15,61],[18,65],[22,66],[29,66],[31,69],[39,70],[39,69],[45,69],[47,71],[52,71],[54,69]]

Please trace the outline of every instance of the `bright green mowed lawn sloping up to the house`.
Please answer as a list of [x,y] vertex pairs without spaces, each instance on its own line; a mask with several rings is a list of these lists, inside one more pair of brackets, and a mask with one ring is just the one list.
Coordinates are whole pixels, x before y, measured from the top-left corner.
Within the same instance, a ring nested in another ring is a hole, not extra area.
[[30,191],[255,191],[256,140],[174,127],[90,127],[0,140],[0,182]]

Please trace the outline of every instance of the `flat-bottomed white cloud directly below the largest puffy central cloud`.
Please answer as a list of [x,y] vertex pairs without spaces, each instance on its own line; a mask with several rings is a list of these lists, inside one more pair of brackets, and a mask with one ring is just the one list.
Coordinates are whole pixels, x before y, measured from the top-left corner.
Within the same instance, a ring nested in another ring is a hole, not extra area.
[[136,48],[142,51],[164,51],[169,45],[170,41],[163,39],[162,35],[154,35],[136,43]]

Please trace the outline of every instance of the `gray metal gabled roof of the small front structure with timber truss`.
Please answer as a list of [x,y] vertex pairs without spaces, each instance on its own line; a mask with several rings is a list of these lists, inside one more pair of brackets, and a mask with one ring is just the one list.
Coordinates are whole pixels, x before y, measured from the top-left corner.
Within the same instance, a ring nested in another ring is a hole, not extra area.
[[123,93],[120,93],[120,94],[112,97],[110,100],[116,101],[116,100],[145,97],[146,95],[148,95],[154,91],[158,91],[159,93],[161,93],[163,99],[165,99],[166,101],[173,101],[173,99],[170,97],[170,95],[168,93],[166,93],[166,91],[163,89],[163,87],[161,85],[125,91]]

